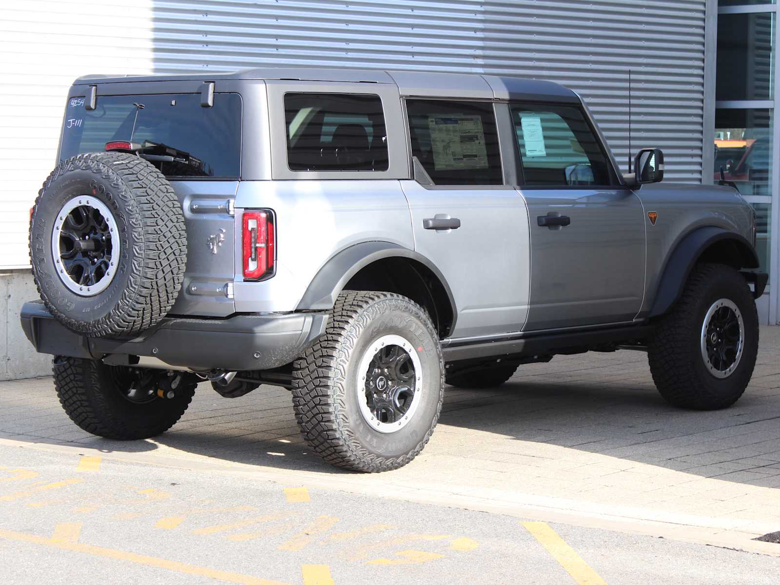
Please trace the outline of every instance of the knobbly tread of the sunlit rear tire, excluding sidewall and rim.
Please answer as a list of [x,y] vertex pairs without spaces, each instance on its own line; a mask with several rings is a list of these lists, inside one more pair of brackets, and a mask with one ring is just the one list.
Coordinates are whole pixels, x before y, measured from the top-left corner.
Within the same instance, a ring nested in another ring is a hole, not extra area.
[[436,344],[441,371],[438,407],[433,424],[419,444],[406,455],[387,458],[368,452],[353,440],[346,424],[346,368],[360,331],[378,315],[380,303],[409,311],[422,321],[433,339],[438,334],[427,312],[395,293],[348,291],[337,298],[324,335],[293,363],[293,409],[301,434],[326,462],[348,470],[378,473],[406,465],[423,450],[436,427],[444,399],[444,358]]

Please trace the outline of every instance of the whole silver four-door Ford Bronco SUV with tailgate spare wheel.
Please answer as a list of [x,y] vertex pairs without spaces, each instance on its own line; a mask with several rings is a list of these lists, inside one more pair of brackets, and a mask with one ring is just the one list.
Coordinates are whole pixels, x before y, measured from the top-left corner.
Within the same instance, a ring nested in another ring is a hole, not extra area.
[[249,69],[86,76],[30,222],[69,417],[141,439],[201,381],[293,393],[314,452],[392,470],[445,383],[647,351],[672,405],[743,394],[756,360],[753,208],[732,186],[622,175],[580,97],[488,75]]

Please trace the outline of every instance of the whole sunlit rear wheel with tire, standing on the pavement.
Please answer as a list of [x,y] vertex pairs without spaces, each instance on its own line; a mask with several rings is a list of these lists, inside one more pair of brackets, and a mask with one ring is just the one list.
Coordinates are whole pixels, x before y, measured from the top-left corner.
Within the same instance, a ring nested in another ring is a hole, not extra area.
[[293,364],[296,420],[328,463],[393,470],[431,437],[443,373],[438,335],[417,303],[393,293],[342,293],[325,334]]

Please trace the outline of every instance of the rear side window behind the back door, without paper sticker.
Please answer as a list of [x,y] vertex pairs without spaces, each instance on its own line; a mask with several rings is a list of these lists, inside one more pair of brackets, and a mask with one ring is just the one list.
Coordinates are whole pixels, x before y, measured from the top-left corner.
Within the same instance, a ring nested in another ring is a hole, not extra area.
[[387,133],[377,95],[285,94],[291,171],[386,171]]

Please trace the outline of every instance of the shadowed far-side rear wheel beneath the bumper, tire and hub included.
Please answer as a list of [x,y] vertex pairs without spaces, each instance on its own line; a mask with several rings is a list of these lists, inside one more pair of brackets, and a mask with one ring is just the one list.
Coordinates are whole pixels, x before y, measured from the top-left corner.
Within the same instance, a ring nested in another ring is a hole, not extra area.
[[154,437],[182,417],[195,392],[191,374],[108,366],[55,357],[54,384],[62,408],[79,427],[130,441]]

